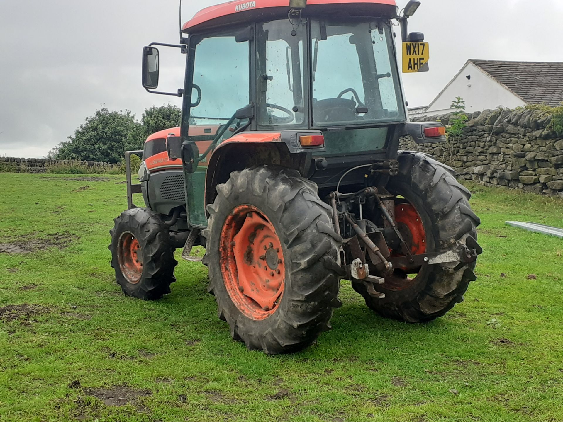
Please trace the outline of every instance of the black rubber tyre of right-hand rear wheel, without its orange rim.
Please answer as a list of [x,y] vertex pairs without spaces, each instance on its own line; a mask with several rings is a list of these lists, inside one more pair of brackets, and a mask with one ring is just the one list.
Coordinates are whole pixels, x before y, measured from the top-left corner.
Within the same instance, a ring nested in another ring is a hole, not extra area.
[[[397,159],[400,173],[391,179],[388,188],[393,190],[394,184],[402,182],[422,199],[423,211],[430,218],[431,225],[425,228],[427,237],[428,231],[432,234],[433,250],[446,251],[461,242],[482,252],[477,244],[477,226],[481,221],[469,205],[471,192],[458,183],[454,170],[419,152],[399,151]],[[401,195],[409,199],[406,193]],[[386,294],[385,299],[370,297],[365,286],[358,282],[353,282],[352,287],[364,297],[369,308],[384,317],[426,322],[443,316],[463,301],[469,283],[476,280],[473,270],[475,262],[429,266],[426,277],[406,291],[377,289]]]

